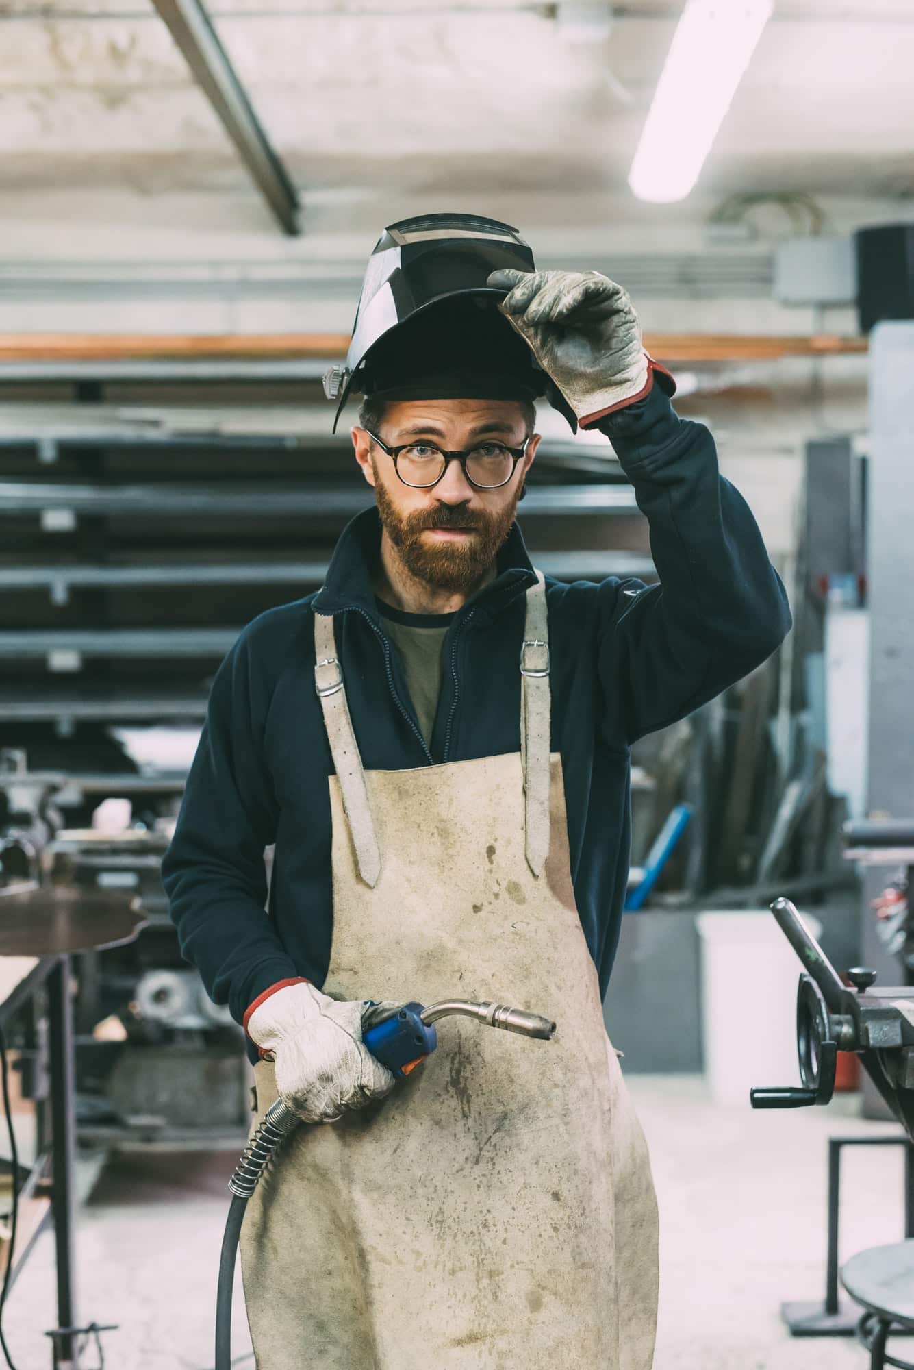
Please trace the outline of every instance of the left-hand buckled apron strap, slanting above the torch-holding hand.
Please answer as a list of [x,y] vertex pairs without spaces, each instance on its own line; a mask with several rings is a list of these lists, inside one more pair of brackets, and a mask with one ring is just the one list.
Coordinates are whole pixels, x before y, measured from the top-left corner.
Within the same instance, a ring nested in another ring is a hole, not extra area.
[[356,848],[358,874],[374,889],[380,875],[380,848],[378,847],[365,773],[346,703],[342,666],[337,656],[332,614],[315,614],[315,648],[317,652],[315,689],[320,699],[330,752]]

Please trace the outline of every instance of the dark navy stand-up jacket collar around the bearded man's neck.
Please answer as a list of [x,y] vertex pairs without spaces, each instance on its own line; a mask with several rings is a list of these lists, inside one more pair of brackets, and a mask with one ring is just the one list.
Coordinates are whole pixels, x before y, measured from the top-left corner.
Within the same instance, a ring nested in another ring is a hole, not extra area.
[[[339,534],[327,569],[327,580],[312,600],[315,612],[339,614],[342,610],[360,608],[379,622],[372,588],[372,574],[379,555],[380,518],[378,508],[372,507],[350,519]],[[498,553],[495,570],[495,580],[472,601],[478,616],[494,618],[536,580],[517,523],[512,525]]]

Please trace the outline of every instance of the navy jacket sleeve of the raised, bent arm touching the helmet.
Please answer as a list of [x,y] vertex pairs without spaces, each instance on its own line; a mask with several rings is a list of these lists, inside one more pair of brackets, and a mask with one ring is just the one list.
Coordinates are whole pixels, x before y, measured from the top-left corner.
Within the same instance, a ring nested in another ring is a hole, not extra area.
[[742,680],[791,629],[787,593],[702,423],[660,386],[599,425],[650,525],[660,584],[601,585],[598,670],[608,740],[634,743]]

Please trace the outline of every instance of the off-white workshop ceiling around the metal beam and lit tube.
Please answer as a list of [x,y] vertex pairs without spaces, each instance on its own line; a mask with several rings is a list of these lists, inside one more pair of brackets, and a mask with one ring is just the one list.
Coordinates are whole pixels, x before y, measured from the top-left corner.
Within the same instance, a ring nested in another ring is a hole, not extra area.
[[[212,0],[304,190],[624,189],[681,0]],[[601,19],[606,16],[605,21]],[[711,193],[914,193],[914,0],[776,0]],[[151,0],[0,0],[0,182],[246,173]]]

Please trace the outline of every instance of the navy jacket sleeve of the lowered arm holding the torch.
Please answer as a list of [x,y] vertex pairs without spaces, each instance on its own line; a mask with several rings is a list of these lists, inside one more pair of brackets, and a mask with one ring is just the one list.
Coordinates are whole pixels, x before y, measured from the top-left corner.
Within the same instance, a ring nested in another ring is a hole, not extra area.
[[270,688],[248,633],[213,680],[161,863],[181,954],[237,1022],[264,989],[297,975],[264,908],[264,847],[275,837],[276,800],[263,747]]

